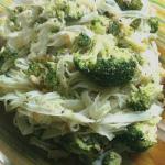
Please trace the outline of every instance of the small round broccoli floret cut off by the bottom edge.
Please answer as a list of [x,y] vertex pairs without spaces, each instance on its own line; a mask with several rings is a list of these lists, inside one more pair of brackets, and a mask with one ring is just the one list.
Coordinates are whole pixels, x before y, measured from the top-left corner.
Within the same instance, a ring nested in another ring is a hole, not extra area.
[[113,151],[109,151],[102,161],[102,165],[121,165],[121,163],[122,157]]

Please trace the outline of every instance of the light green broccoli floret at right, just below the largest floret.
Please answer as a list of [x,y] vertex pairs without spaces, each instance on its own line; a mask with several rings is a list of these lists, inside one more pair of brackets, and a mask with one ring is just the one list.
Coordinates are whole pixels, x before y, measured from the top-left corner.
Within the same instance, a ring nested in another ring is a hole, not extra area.
[[155,86],[154,84],[134,88],[128,100],[128,106],[134,111],[147,110],[160,92],[161,88]]

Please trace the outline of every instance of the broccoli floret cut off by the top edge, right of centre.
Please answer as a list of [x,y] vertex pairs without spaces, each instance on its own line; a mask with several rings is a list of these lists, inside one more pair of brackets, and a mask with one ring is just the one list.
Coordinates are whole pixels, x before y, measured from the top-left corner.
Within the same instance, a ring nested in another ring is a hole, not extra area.
[[141,10],[143,3],[141,0],[116,0],[122,10]]

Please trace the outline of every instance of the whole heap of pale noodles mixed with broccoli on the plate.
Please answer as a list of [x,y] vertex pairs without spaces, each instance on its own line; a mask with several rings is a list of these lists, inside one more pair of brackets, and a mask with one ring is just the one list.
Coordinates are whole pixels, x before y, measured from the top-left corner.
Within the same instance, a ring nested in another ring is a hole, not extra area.
[[164,70],[147,0],[0,4],[0,101],[31,144],[121,165],[157,142]]

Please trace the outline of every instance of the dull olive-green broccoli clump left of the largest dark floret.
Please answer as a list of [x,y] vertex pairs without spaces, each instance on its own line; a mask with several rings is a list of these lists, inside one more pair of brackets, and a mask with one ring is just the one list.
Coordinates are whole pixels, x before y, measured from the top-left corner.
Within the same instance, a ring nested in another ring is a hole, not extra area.
[[34,84],[54,90],[58,86],[56,69],[57,65],[54,62],[31,62],[26,74],[31,77],[31,80]]

